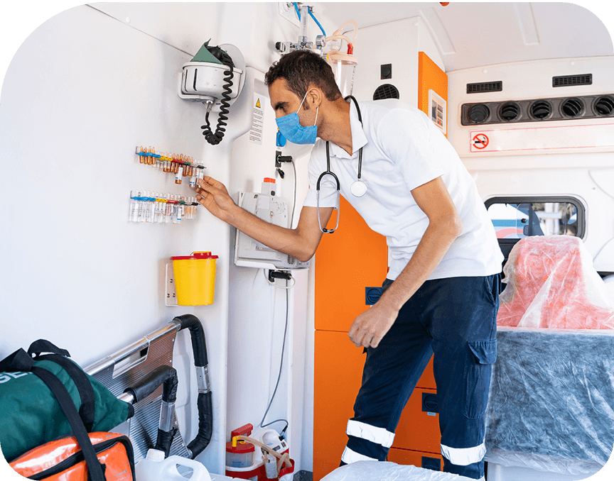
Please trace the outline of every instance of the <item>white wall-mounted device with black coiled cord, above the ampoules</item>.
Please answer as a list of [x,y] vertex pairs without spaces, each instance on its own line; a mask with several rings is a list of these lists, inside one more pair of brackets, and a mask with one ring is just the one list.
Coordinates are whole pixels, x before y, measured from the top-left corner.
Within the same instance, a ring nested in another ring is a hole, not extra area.
[[[220,45],[222,50],[230,55],[235,67],[232,69],[232,86],[230,87],[228,100],[232,105],[243,89],[245,83],[245,60],[235,45],[225,43]],[[220,109],[222,94],[225,92],[224,72],[228,67],[213,62],[186,62],[181,70],[179,79],[178,95],[181,99],[212,104],[212,110]]]

